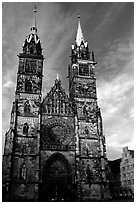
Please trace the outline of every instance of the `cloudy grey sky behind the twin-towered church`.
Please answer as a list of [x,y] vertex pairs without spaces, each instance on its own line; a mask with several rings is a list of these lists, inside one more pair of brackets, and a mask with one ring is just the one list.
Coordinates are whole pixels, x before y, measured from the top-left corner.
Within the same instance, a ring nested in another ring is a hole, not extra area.
[[[2,5],[2,127],[3,141],[9,128],[15,96],[17,54],[33,24],[35,3],[4,2]],[[121,156],[122,147],[134,149],[134,8],[133,3],[36,3],[38,35],[44,61],[43,95],[57,73],[68,92],[67,67],[75,41],[77,16],[97,66],[98,104],[102,111],[107,156]]]

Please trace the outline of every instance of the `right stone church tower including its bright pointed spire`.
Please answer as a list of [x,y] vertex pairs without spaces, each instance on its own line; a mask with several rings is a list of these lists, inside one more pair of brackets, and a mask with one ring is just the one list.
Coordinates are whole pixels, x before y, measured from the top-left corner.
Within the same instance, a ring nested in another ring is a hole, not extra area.
[[106,149],[101,111],[97,103],[94,53],[84,40],[78,16],[71,46],[69,95],[75,112],[76,184],[78,199],[101,200],[106,186]]

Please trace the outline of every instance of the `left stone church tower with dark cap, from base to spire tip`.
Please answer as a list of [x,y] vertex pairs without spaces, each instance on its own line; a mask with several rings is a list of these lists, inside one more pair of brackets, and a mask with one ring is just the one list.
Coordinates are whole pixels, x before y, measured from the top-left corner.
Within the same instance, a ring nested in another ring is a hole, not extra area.
[[43,60],[34,24],[19,53],[15,102],[10,129],[6,133],[3,157],[3,183],[7,200],[37,200],[39,185],[40,103]]

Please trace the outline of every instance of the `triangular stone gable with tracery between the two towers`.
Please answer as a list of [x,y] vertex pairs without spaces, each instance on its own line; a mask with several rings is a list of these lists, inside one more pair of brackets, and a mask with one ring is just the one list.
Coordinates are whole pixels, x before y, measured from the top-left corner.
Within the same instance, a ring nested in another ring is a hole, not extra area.
[[43,99],[42,113],[48,115],[72,115],[72,103],[61,86],[61,81],[56,79],[54,86]]

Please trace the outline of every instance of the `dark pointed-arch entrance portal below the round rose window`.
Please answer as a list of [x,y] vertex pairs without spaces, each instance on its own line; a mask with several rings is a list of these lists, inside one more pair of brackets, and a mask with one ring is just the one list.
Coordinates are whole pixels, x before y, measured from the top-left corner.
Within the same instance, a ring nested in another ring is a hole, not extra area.
[[72,201],[72,177],[68,160],[53,154],[43,169],[43,201]]

